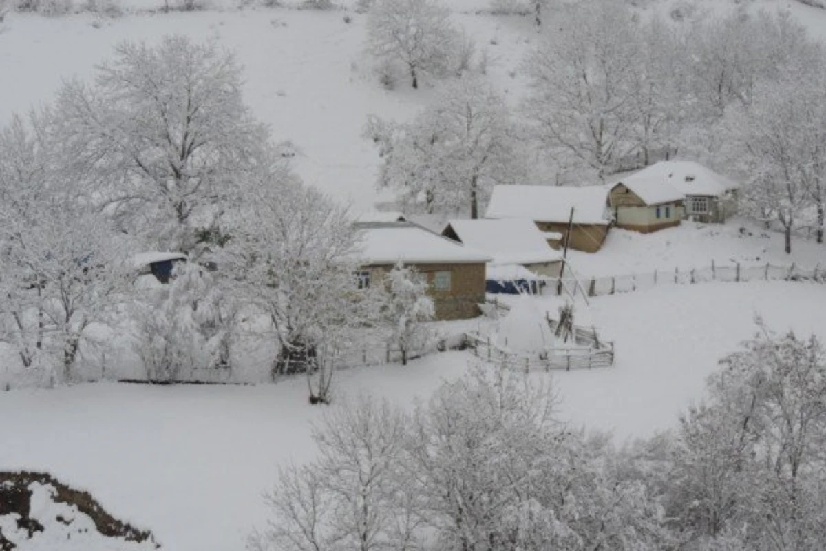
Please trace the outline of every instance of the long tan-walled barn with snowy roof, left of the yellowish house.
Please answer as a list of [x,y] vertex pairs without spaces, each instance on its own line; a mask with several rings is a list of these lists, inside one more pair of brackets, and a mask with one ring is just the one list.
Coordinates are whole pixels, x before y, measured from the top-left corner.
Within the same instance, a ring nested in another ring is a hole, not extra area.
[[[568,235],[568,221],[573,223]],[[608,235],[608,190],[603,186],[497,185],[487,218],[527,218],[544,232],[548,245],[596,253]]]

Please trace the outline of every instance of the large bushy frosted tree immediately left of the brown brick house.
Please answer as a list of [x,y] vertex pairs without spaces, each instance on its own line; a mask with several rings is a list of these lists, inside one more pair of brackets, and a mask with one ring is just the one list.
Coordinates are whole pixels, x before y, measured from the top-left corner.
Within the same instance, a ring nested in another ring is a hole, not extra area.
[[354,278],[358,244],[346,209],[289,173],[270,171],[251,188],[230,232],[219,262],[237,274],[241,300],[273,328],[273,375],[306,372],[317,381],[311,400],[328,401],[353,328],[377,307]]

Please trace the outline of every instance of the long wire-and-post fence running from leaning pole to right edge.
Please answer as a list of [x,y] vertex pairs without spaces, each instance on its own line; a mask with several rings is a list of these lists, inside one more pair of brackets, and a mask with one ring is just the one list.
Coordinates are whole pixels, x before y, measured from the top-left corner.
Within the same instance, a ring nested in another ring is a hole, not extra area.
[[544,294],[561,295],[582,292],[588,297],[601,297],[621,292],[634,292],[662,285],[684,285],[710,282],[750,282],[750,281],[812,281],[826,283],[826,269],[801,268],[796,264],[778,266],[775,264],[716,265],[705,268],[675,268],[673,272],[652,270],[647,273],[632,273],[622,276],[601,278],[544,278]]

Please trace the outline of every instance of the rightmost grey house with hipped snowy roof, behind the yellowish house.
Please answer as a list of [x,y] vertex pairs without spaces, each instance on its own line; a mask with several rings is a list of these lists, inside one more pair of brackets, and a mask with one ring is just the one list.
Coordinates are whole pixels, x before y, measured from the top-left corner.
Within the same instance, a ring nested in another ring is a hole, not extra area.
[[737,211],[738,183],[694,161],[661,161],[630,178],[681,192],[688,220],[721,224]]

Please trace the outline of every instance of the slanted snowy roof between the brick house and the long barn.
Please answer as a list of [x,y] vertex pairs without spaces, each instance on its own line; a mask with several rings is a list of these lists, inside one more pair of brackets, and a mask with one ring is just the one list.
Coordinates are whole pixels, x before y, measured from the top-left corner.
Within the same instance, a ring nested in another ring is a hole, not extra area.
[[490,254],[491,264],[538,264],[563,258],[562,253],[551,249],[534,221],[527,218],[451,220],[443,235],[449,229],[464,245]]

